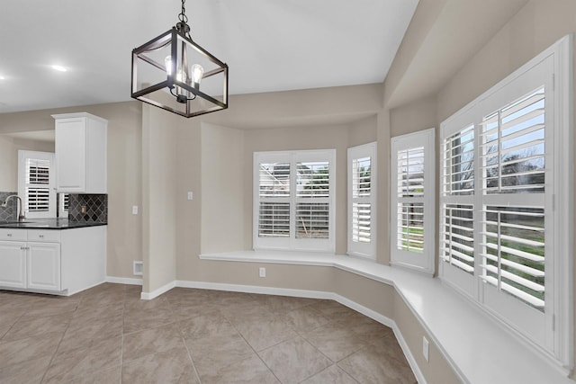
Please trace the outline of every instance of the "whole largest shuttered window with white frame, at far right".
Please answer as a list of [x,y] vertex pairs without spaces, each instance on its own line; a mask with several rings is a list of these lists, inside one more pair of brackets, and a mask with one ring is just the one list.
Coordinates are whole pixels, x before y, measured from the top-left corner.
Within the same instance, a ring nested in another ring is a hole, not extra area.
[[572,70],[564,39],[441,124],[440,275],[572,362]]

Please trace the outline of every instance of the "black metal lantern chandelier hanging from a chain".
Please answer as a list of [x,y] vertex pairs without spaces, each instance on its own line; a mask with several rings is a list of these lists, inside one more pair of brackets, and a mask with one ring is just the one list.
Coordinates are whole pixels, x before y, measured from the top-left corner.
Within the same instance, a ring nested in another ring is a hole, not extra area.
[[175,27],[132,50],[131,96],[193,117],[228,108],[228,65],[193,42],[184,3]]

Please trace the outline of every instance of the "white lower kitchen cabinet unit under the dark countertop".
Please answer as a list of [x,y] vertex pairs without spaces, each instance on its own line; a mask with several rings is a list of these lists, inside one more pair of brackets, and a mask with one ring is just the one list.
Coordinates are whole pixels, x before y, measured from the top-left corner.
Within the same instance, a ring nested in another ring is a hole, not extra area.
[[0,289],[67,294],[104,281],[105,227],[0,228]]

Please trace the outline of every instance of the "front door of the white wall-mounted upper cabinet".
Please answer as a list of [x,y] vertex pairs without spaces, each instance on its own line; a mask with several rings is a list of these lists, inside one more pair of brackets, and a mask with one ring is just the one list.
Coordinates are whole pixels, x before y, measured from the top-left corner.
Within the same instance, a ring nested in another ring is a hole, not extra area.
[[58,192],[85,192],[85,118],[56,121],[56,169]]

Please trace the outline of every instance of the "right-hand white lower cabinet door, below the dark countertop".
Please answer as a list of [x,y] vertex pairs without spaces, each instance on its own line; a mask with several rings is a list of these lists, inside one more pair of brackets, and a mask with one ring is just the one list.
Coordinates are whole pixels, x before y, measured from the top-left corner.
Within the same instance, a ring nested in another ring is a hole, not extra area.
[[28,288],[60,290],[60,245],[28,243]]

